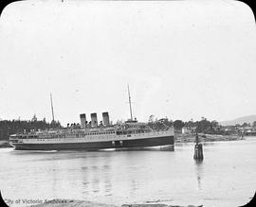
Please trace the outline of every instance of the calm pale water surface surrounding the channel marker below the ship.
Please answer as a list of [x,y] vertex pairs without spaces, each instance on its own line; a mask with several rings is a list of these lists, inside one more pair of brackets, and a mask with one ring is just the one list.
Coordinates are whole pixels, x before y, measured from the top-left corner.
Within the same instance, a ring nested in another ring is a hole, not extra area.
[[71,198],[117,205],[148,202],[233,207],[246,204],[254,195],[256,137],[205,143],[201,164],[196,164],[192,155],[193,144],[176,144],[174,151],[0,148],[0,189],[10,206],[26,206],[22,199],[37,204],[45,199]]

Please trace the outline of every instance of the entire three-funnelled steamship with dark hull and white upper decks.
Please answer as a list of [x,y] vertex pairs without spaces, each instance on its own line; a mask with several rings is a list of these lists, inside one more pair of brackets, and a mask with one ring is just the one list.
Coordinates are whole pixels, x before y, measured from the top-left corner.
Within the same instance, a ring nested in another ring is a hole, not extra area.
[[88,123],[86,114],[82,113],[80,125],[12,134],[9,136],[9,144],[18,150],[174,149],[174,129],[166,126],[165,129],[154,130],[145,123],[137,122],[136,118],[133,119],[129,87],[128,94],[131,118],[125,123],[112,125],[108,112],[102,112],[100,124],[97,113],[91,113],[91,121]]

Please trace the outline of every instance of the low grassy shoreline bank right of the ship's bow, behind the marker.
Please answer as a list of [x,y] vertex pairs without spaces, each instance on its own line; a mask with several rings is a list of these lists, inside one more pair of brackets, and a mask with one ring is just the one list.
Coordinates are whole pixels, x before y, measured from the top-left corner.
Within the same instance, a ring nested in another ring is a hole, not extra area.
[[[242,140],[239,135],[217,135],[217,134],[198,134],[200,142],[215,142],[215,141],[234,141]],[[177,133],[175,134],[175,143],[194,143],[195,134]]]

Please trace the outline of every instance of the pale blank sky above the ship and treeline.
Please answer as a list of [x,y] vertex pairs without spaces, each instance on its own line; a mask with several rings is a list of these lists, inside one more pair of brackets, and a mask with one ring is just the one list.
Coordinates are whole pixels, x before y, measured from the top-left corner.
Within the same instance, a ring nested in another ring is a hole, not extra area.
[[224,121],[256,114],[254,16],[239,1],[27,0],[0,18],[0,119]]

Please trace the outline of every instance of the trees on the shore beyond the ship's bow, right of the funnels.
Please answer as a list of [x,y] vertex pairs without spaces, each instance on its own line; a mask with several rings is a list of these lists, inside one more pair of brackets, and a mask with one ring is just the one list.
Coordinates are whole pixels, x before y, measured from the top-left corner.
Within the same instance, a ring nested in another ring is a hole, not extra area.
[[219,125],[219,123],[215,120],[210,121],[205,117],[202,117],[200,121],[190,120],[188,122],[184,122],[182,120],[169,120],[166,118],[157,119],[154,115],[149,117],[149,126],[152,129],[166,129],[168,127],[174,127],[176,131],[183,129],[189,129],[192,132],[198,133],[208,133],[208,134],[227,134],[228,132],[224,130],[224,128]]

